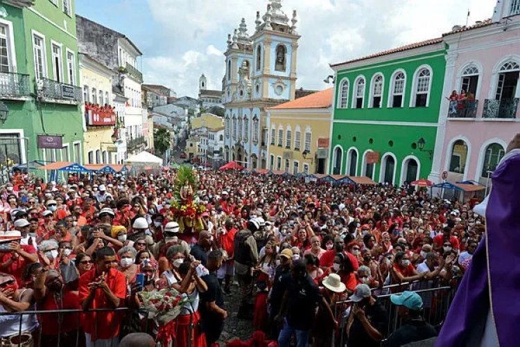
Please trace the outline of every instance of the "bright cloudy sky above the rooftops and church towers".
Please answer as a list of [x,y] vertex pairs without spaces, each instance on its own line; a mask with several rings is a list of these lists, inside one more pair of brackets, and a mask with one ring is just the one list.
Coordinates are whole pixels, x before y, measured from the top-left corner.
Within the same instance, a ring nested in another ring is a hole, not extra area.
[[[268,0],[76,0],[76,12],[124,33],[144,53],[146,83],[196,96],[205,73],[220,89],[227,34],[242,17],[254,30]],[[297,87],[324,89],[329,63],[439,37],[455,24],[492,16],[496,0],[282,0],[298,12]]]

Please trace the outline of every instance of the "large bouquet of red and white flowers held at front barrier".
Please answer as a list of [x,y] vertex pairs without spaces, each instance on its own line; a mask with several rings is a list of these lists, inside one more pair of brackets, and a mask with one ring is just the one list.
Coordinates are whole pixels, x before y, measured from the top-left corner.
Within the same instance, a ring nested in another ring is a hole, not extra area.
[[173,288],[157,292],[140,292],[139,296],[144,308],[148,310],[148,318],[155,319],[159,326],[164,326],[177,318],[182,306],[189,299]]

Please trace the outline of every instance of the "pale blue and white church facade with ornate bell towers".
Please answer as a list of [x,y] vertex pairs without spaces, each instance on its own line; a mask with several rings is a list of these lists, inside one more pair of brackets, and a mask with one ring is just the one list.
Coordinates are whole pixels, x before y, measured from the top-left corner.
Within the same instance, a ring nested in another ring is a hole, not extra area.
[[228,35],[223,79],[225,105],[225,161],[246,168],[267,167],[266,109],[294,100],[298,35],[281,0],[270,0],[263,17],[257,12],[254,34],[242,19]]

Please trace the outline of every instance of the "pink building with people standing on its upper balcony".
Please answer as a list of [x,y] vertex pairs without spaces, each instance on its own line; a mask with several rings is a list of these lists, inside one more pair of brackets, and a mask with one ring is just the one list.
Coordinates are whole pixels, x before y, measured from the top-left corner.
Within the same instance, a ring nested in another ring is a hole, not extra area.
[[431,179],[474,180],[487,185],[490,173],[520,132],[520,0],[499,0],[492,19],[454,28],[449,45],[444,98]]

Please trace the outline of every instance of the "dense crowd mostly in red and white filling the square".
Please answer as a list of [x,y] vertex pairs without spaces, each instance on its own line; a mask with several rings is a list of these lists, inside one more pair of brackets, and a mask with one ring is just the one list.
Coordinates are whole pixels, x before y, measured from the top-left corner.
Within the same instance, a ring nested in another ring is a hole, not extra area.
[[[399,294],[413,290],[403,283],[451,285],[485,232],[476,199],[285,175],[196,175],[203,228],[180,232],[173,171],[71,174],[62,184],[17,172],[0,190],[0,345],[117,346],[146,331],[163,346],[214,346],[236,314],[281,347],[331,346],[339,331],[349,347],[379,346],[389,317],[374,290],[390,286],[415,327],[390,336],[389,346],[401,346],[435,336],[421,316],[426,299]],[[139,292],[164,288],[189,303],[159,326]],[[225,296],[236,296],[238,312],[226,310]],[[345,301],[342,321],[334,307]]]

